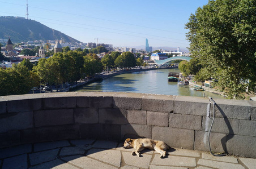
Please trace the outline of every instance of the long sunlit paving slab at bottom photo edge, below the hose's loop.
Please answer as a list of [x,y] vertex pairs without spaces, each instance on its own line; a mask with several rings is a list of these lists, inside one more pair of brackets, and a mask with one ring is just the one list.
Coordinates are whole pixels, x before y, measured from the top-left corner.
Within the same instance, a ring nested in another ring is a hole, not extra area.
[[211,161],[208,159],[199,159],[198,164],[202,166],[207,166],[207,167],[213,167],[213,168],[220,168],[220,169],[227,169],[227,168],[232,168],[232,169],[244,169],[241,164],[234,164],[234,163],[225,163],[225,162],[219,162],[219,161]]

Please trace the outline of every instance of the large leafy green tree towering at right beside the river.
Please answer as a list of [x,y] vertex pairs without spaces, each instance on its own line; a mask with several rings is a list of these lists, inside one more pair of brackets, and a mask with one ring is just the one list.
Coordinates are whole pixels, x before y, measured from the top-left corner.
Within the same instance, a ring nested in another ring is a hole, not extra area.
[[209,1],[186,24],[192,57],[229,99],[256,92],[256,7],[252,0]]

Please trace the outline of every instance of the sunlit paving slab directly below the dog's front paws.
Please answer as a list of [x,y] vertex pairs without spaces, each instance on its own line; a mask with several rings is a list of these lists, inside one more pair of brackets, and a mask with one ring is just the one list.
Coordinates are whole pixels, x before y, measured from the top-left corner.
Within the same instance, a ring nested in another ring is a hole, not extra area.
[[138,157],[137,155],[131,155],[130,152],[122,152],[122,155],[125,164],[141,168],[148,168],[152,158],[152,155],[142,154],[143,157]]

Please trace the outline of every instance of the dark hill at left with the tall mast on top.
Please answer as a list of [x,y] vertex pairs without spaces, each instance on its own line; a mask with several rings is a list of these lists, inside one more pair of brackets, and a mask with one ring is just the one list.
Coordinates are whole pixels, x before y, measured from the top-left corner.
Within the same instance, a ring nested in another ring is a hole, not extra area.
[[43,41],[63,39],[65,42],[80,42],[35,20],[0,16],[0,39],[8,39],[8,37],[16,43],[40,39]]

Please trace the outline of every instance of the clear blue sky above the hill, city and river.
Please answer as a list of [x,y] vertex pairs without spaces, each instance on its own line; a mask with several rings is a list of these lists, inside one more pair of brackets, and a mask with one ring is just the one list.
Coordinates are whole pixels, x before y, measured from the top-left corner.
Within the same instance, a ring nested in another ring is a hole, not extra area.
[[[78,41],[117,47],[189,47],[185,24],[208,0],[28,0],[28,18]],[[0,0],[0,16],[27,17],[26,0]]]

